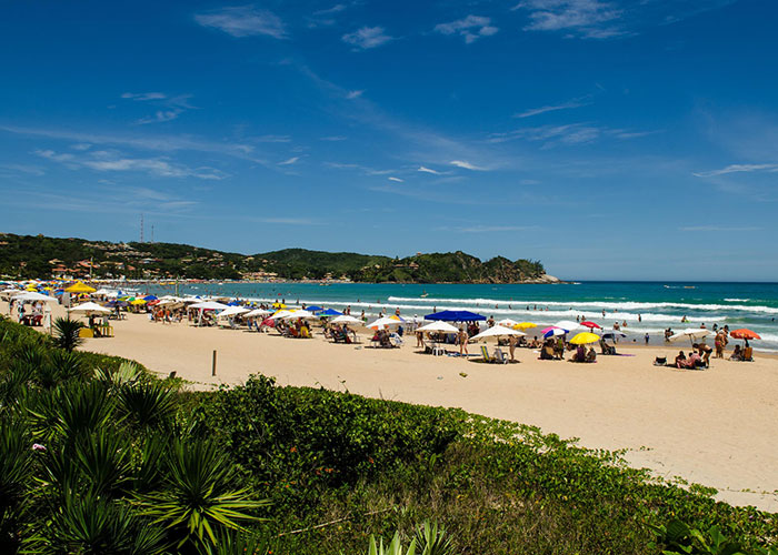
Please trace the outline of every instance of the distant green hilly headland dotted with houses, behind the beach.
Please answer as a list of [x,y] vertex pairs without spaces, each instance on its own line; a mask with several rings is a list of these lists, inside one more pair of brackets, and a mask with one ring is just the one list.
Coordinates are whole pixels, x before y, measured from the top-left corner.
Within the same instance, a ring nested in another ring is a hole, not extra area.
[[346,278],[360,282],[515,283],[545,273],[538,261],[498,256],[487,262],[465,254],[418,254],[405,259],[348,252],[285,249],[243,255],[173,243],[109,243],[42,235],[0,234],[0,274],[52,274],[146,279]]

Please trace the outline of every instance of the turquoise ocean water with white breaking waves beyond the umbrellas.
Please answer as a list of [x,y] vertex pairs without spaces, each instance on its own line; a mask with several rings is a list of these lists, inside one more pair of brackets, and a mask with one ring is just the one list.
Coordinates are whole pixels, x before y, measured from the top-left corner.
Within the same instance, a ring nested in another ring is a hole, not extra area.
[[[149,286],[154,294],[174,292],[172,285]],[[437,309],[469,310],[496,320],[553,324],[586,316],[605,329],[627,322],[627,340],[661,342],[665,329],[675,331],[729,325],[748,327],[762,337],[755,350],[778,352],[778,283],[582,282],[536,285],[370,284],[370,283],[200,283],[180,284],[179,294],[286,300],[287,304],[318,304],[352,314],[380,311],[423,316]],[[422,296],[426,295],[426,296]],[[605,316],[602,312],[605,311]],[[682,324],[686,316],[688,323]],[[529,330],[531,336],[533,330]]]

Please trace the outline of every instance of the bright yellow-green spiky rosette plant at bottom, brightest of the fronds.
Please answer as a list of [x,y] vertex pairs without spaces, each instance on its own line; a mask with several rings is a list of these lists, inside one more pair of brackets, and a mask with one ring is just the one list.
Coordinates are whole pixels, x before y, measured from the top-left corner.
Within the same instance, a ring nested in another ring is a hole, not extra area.
[[163,490],[142,496],[140,504],[144,515],[168,529],[177,548],[216,545],[220,531],[243,531],[241,522],[260,519],[247,511],[269,503],[232,486],[231,462],[212,442],[173,440],[166,466]]

